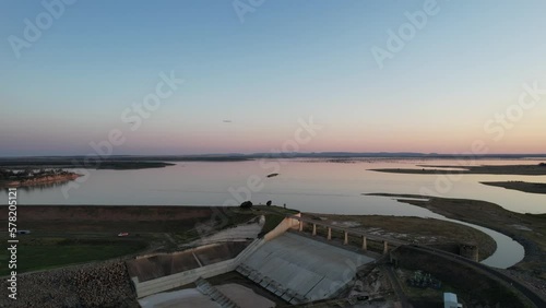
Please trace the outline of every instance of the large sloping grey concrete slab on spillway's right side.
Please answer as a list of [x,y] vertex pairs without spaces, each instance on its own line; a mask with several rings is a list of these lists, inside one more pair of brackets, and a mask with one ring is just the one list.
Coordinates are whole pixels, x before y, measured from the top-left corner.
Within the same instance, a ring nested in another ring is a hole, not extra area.
[[293,303],[329,298],[373,259],[296,234],[266,241],[237,271]]

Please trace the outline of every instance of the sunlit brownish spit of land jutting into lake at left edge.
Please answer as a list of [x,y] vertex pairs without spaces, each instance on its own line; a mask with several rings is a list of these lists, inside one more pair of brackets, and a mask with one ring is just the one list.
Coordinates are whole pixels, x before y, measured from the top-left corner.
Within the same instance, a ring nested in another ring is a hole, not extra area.
[[74,180],[81,176],[63,169],[0,169],[0,188],[49,185]]

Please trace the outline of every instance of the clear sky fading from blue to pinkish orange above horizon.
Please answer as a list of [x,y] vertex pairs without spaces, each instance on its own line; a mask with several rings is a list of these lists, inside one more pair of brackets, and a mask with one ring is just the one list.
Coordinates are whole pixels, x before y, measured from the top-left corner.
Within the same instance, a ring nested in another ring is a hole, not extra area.
[[0,1],[0,156],[546,153],[545,12]]

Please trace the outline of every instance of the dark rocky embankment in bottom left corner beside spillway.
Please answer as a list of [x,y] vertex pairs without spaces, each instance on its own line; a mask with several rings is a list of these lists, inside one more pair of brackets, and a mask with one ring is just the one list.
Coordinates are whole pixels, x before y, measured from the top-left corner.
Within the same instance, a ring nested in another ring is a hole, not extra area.
[[[8,282],[2,279],[2,289]],[[140,307],[123,261],[109,261],[17,276],[17,298],[0,307]]]

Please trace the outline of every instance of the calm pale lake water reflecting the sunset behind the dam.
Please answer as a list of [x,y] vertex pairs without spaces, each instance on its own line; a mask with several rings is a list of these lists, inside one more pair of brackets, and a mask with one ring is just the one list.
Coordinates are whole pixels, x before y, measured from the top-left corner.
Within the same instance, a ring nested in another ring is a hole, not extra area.
[[[472,165],[538,164],[531,159],[477,161]],[[305,212],[336,214],[405,215],[444,218],[428,210],[392,198],[363,196],[369,192],[412,193],[485,200],[519,213],[545,213],[546,196],[490,187],[479,181],[522,180],[546,182],[546,176],[403,175],[371,168],[423,168],[419,165],[453,165],[453,159],[257,159],[245,162],[183,162],[141,170],[88,170],[78,181],[48,188],[19,189],[20,204],[123,204],[123,205],[237,205],[242,200]],[[464,162],[462,166],[468,165]],[[79,171],[79,170],[76,170]],[[81,173],[81,171],[80,171]],[[278,173],[268,178],[269,174]],[[0,198],[7,200],[5,191]],[[488,232],[499,250],[485,263],[509,266],[523,258],[523,248],[502,235]],[[515,261],[515,262],[514,262]]]

